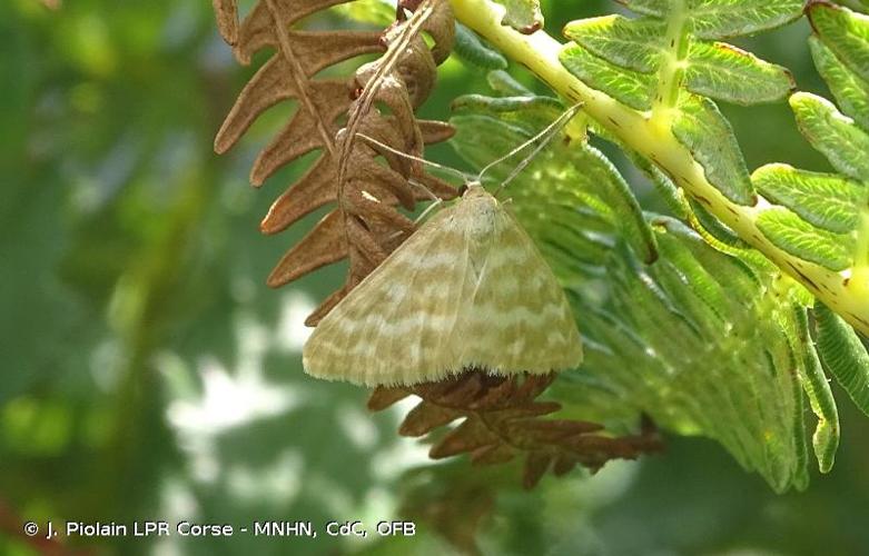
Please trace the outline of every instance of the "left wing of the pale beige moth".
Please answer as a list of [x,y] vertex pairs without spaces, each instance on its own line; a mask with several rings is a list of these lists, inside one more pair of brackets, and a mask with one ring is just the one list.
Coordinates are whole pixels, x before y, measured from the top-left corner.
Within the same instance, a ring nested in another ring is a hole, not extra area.
[[303,350],[308,374],[379,386],[461,371],[450,330],[468,289],[467,246],[453,208],[435,215],[317,325]]

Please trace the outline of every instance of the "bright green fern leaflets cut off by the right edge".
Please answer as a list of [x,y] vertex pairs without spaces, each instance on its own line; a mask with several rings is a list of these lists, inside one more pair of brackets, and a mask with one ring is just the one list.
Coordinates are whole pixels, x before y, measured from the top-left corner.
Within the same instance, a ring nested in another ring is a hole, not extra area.
[[[818,173],[784,165],[759,168],[758,188],[786,207],[761,215],[766,234],[803,260],[842,271],[842,281],[869,304],[869,18],[826,2],[811,2],[809,39],[818,71],[845,113],[814,95],[790,98],[806,139],[839,173]],[[863,413],[869,357],[840,318],[822,304],[814,310],[818,348],[830,374]],[[846,311],[845,318],[863,318]]]

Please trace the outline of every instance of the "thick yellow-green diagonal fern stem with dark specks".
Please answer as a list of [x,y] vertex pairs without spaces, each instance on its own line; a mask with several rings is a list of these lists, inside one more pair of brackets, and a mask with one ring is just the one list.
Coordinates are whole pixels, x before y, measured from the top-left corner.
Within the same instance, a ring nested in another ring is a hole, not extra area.
[[522,34],[502,26],[503,7],[488,0],[450,0],[456,18],[483,36],[503,53],[527,67],[567,102],[584,103],[585,112],[609,129],[628,147],[658,165],[694,198],[710,201],[709,210],[745,242],[762,252],[782,271],[792,276],[824,305],[842,316],[865,335],[869,335],[869,299],[865,288],[848,287],[839,272],[798,259],[772,245],[758,229],[761,207],[740,206],[728,200],[709,180],[703,168],[673,137],[669,127],[656,125],[645,115],[615,99],[586,87],[559,60],[562,44],[544,31]]

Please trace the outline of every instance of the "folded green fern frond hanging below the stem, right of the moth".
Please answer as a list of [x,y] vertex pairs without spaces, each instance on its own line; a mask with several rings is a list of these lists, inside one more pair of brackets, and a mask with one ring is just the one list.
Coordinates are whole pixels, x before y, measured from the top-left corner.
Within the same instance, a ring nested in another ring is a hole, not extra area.
[[[453,145],[475,166],[501,153],[492,138],[521,142],[557,113],[541,98],[475,96],[456,107]],[[505,193],[571,292],[586,346],[582,369],[563,374],[550,394],[573,417],[626,423],[645,413],[720,441],[776,490],[803,488],[803,389],[819,417],[812,444],[824,471],[839,425],[813,366],[802,288],[762,259],[714,250],[671,218],[625,218],[612,189],[620,182],[575,138],[544,151]],[[653,244],[638,240],[645,235]],[[659,259],[645,265],[650,244]]]

